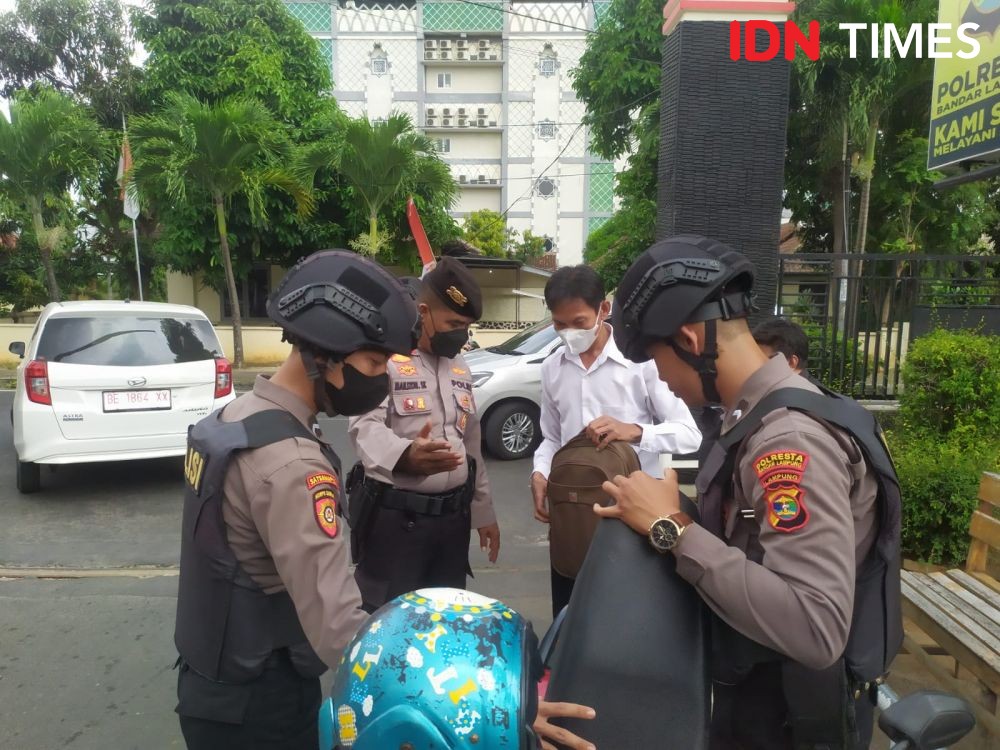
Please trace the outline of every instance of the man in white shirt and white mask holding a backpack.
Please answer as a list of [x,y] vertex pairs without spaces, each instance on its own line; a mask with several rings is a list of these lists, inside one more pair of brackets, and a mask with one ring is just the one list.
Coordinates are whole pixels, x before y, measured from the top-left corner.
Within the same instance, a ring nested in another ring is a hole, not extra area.
[[[589,266],[566,266],[545,285],[545,304],[565,343],[542,365],[542,443],[535,451],[531,494],[535,518],[549,522],[546,489],[552,457],[587,429],[600,449],[614,440],[632,445],[643,471],[661,477],[660,454],[692,453],[701,433],[691,412],[649,362],[636,365],[619,351],[606,322],[611,303]],[[569,602],[574,579],[552,570],[553,616]]]

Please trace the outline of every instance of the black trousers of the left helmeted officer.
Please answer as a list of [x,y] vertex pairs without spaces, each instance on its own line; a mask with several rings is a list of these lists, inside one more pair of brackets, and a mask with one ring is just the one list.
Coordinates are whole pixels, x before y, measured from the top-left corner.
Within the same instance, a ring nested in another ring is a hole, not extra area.
[[182,666],[177,713],[188,750],[316,750],[322,692],[287,652],[244,685],[220,685]]

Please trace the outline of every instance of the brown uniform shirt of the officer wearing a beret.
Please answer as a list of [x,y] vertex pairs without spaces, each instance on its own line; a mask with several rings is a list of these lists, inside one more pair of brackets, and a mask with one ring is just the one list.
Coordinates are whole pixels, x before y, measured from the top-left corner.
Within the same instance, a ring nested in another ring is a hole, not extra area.
[[[472,527],[496,523],[490,485],[480,445],[481,430],[472,376],[462,355],[454,359],[420,350],[389,359],[389,398],[368,414],[348,422],[354,450],[365,474],[401,490],[435,495],[465,484],[469,459],[476,461],[476,492],[472,500]],[[454,471],[431,476],[393,471],[403,451],[431,421],[432,440],[447,440],[465,457]]]

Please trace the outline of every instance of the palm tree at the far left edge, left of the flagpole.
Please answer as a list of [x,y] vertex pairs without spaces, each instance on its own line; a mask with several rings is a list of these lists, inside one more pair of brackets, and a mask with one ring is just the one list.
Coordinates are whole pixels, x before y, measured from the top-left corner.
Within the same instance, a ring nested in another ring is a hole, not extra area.
[[19,91],[10,120],[0,117],[0,193],[31,217],[51,301],[61,297],[52,254],[70,233],[61,224],[47,226],[46,209],[95,175],[107,155],[96,120],[52,89]]

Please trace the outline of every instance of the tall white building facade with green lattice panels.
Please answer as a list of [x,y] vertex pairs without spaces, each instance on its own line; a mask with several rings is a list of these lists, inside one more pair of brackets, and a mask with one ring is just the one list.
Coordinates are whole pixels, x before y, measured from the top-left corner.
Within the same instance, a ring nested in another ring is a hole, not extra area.
[[607,2],[286,5],[319,43],[345,112],[402,112],[437,142],[459,186],[457,219],[504,213],[551,240],[560,265],[582,262],[616,207],[616,165],[589,153],[570,73]]

